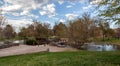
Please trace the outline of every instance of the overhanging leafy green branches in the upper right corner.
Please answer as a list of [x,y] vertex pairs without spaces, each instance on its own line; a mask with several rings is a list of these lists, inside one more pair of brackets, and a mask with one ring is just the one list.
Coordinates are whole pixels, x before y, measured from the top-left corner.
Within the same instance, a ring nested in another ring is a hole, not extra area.
[[104,7],[103,10],[100,10],[100,16],[120,24],[120,0],[102,0],[99,7]]

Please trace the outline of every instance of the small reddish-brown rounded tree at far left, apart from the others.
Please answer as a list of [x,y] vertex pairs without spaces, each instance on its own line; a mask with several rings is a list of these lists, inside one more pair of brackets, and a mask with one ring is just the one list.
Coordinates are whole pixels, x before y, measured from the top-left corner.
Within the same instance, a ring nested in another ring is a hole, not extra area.
[[14,30],[12,28],[11,25],[6,25],[6,27],[4,28],[4,36],[6,37],[6,39],[10,39],[14,37]]

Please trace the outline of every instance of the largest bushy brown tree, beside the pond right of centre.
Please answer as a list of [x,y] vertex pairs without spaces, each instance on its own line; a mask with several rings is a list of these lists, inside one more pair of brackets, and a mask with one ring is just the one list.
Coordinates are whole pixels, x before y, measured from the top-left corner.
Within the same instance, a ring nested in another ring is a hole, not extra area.
[[84,13],[82,18],[71,22],[69,26],[69,37],[71,41],[76,44],[88,42],[93,37],[91,31],[93,31],[93,27],[95,26],[94,22],[88,13]]

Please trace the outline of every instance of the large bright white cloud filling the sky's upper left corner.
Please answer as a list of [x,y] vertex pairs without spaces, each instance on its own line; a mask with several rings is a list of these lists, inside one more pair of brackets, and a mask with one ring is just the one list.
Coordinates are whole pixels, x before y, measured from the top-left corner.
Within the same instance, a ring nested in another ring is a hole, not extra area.
[[42,5],[47,4],[48,0],[3,0],[4,4],[0,6],[3,14],[13,16],[28,16],[33,15],[31,11],[42,8]]

